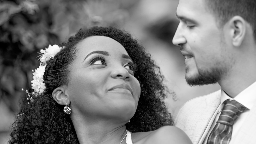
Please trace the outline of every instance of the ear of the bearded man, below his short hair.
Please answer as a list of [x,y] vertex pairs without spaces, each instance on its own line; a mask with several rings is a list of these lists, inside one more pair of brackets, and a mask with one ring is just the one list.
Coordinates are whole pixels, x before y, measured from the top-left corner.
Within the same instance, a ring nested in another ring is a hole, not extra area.
[[246,36],[246,21],[241,16],[234,16],[228,23],[232,44],[235,47],[239,47]]

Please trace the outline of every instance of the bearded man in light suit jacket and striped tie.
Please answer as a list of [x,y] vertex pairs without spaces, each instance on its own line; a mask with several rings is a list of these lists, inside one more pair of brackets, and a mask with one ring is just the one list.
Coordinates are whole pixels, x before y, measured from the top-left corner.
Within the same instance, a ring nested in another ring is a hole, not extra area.
[[194,144],[255,144],[256,1],[180,0],[177,17],[187,83],[221,90],[184,104],[175,125]]

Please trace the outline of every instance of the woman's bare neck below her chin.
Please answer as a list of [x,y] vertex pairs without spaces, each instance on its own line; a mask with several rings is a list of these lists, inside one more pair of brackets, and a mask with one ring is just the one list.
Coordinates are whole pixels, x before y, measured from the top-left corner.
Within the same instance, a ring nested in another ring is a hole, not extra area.
[[[123,124],[71,117],[80,144],[119,144],[126,135]],[[125,141],[125,140],[124,140]]]

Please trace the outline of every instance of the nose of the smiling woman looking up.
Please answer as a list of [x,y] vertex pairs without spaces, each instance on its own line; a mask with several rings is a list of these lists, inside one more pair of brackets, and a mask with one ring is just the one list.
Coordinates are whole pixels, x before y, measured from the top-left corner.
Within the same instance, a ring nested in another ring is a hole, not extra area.
[[111,72],[111,77],[112,78],[120,78],[123,80],[130,80],[130,74],[129,72],[122,66],[117,66],[113,69]]

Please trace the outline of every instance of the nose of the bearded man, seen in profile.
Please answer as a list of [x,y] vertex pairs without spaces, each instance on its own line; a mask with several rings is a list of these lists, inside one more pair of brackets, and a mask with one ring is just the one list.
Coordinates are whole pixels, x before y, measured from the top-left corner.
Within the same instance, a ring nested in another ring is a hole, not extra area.
[[184,37],[182,25],[179,24],[173,37],[173,44],[179,46],[180,44],[185,44],[186,42],[187,40]]

